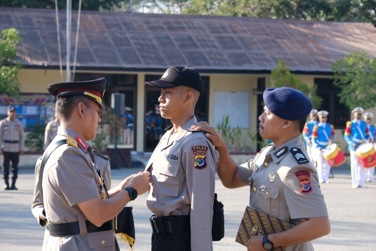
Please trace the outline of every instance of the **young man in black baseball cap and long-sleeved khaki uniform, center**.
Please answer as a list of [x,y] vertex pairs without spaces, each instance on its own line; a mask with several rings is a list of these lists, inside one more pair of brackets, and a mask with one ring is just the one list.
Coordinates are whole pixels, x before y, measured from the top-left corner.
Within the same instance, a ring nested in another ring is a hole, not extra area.
[[189,130],[204,83],[193,68],[170,67],[160,80],[160,111],[171,119],[145,171],[149,171],[147,207],[153,229],[152,251],[212,250],[211,226],[218,153],[205,134]]

